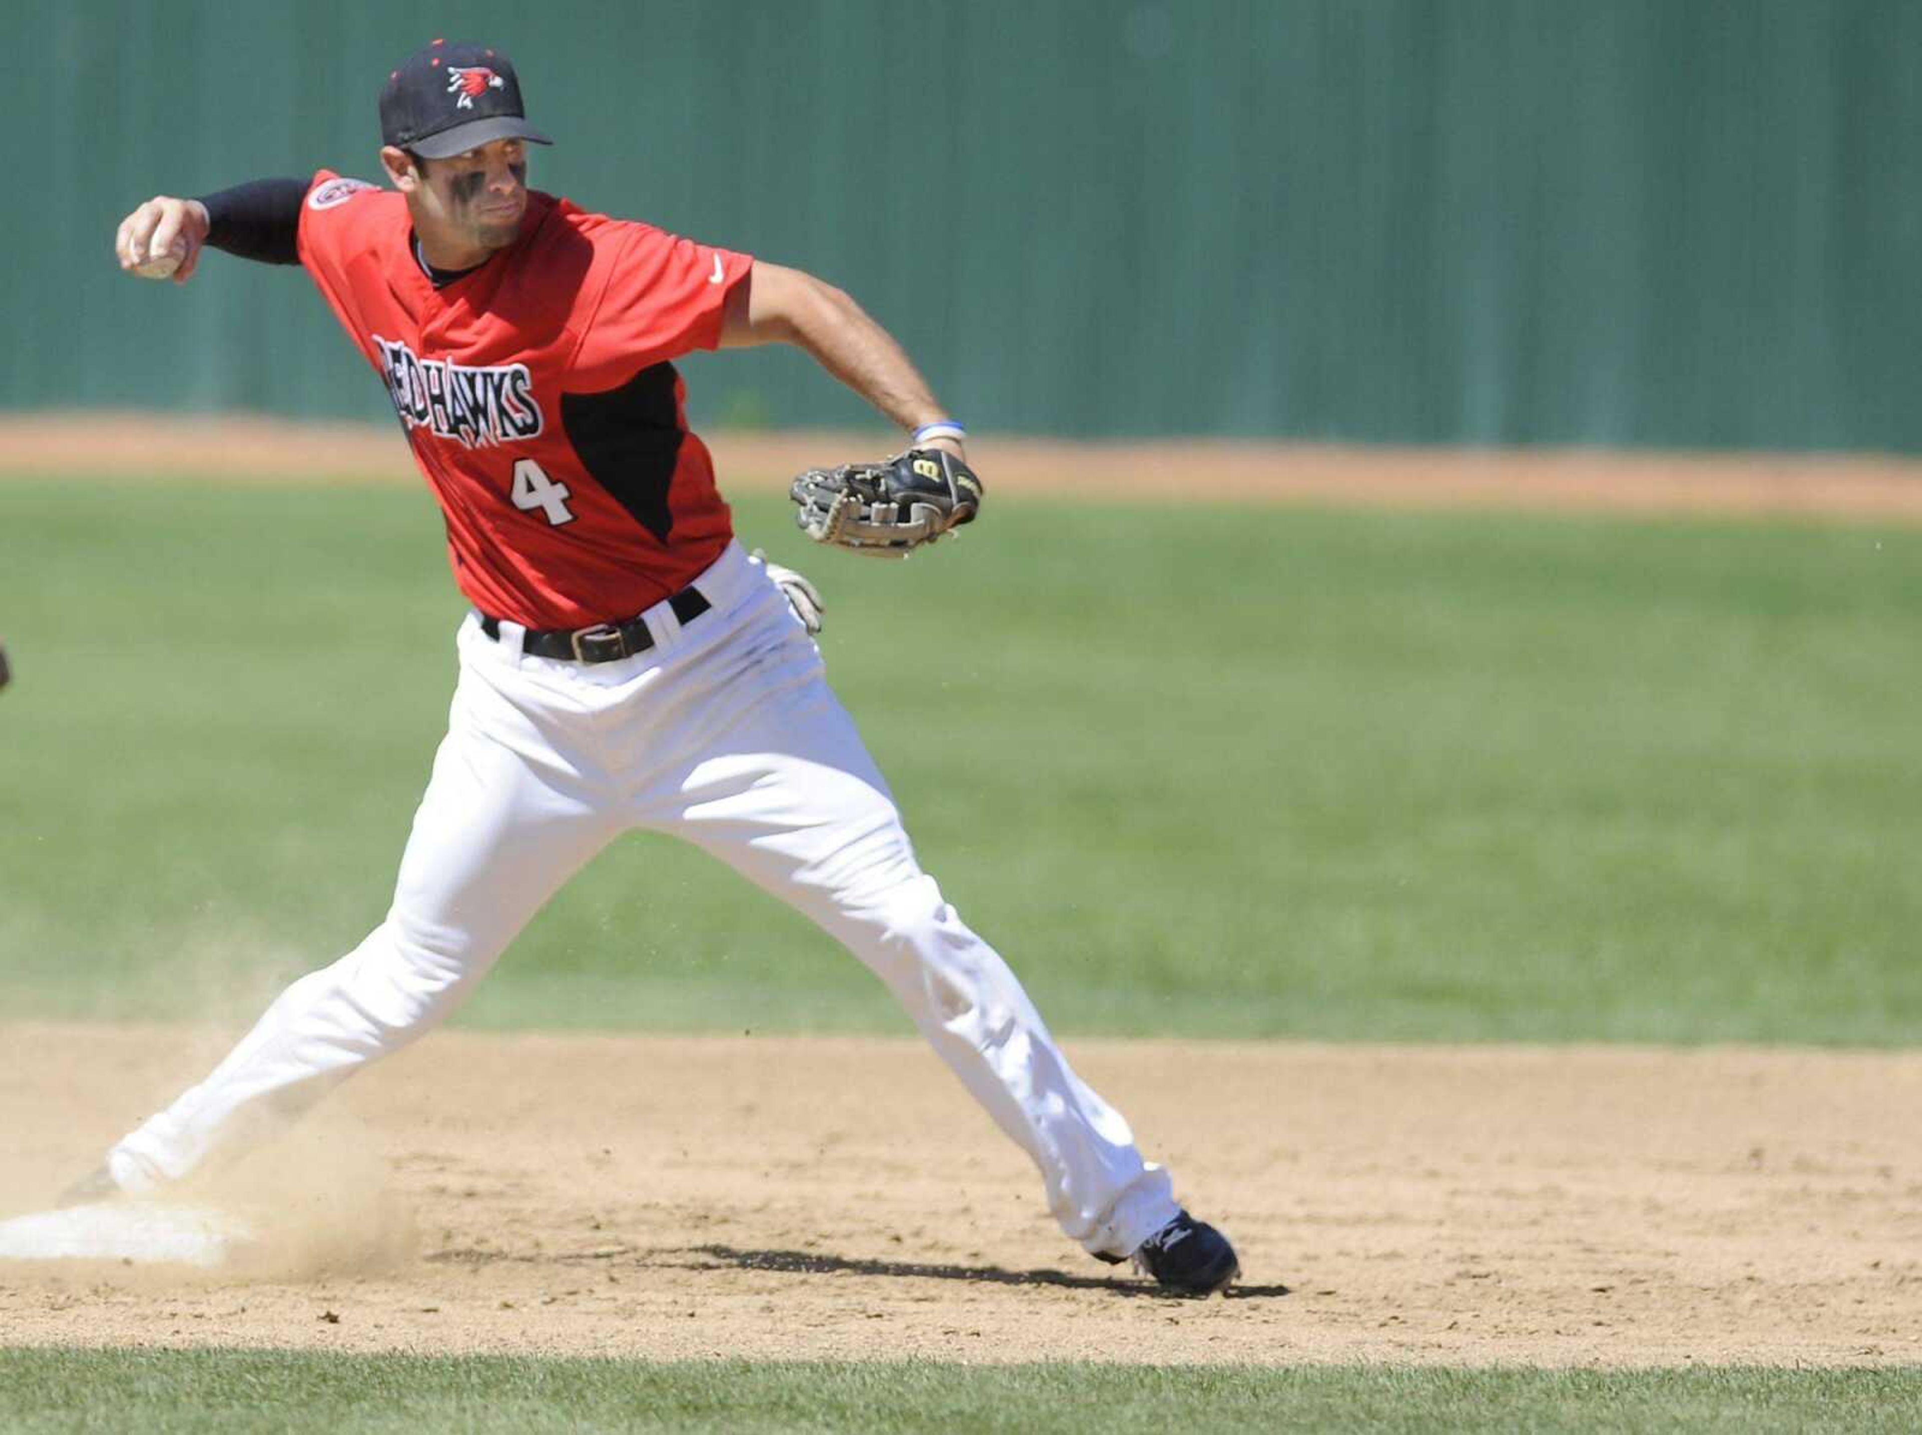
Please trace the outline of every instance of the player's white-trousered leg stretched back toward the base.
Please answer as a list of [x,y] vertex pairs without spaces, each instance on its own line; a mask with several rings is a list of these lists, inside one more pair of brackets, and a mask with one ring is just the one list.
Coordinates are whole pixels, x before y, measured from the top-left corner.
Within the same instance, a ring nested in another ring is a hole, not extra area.
[[448,1016],[540,905],[615,834],[567,713],[463,632],[463,670],[386,920],[267,1009],[208,1080],[108,1156],[123,1189],[175,1181],[304,1110]]

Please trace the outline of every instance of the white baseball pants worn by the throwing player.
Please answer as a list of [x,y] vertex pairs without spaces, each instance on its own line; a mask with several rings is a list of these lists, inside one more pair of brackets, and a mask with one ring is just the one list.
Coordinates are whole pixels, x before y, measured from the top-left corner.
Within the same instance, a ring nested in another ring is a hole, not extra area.
[[686,838],[792,903],[888,984],[1040,1168],[1061,1229],[1130,1254],[1176,1212],[1169,1174],[1069,1066],[996,951],[915,863],[821,651],[738,544],[713,605],[617,663],[521,653],[469,615],[448,736],[386,920],[294,982],[200,1085],[108,1156],[131,1191],[177,1181],[446,1018],[569,876],[630,828]]

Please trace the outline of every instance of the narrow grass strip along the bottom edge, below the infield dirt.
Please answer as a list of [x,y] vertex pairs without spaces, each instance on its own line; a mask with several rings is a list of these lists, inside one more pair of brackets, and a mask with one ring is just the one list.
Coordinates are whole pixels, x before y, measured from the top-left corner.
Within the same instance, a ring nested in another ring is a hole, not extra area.
[[1912,1431],[1914,1370],[1411,1370],[0,1350],[6,1431]]

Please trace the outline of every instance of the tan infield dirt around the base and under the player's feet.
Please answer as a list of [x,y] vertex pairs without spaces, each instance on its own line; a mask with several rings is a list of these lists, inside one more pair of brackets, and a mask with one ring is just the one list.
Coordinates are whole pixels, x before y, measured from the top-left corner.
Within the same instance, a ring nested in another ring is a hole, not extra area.
[[[0,1026],[0,1214],[231,1034]],[[1236,1237],[1228,1299],[1069,1245],[913,1039],[444,1032],[208,1199],[246,1276],[0,1268],[8,1345],[646,1358],[1910,1364],[1922,1057],[1071,1041]]]

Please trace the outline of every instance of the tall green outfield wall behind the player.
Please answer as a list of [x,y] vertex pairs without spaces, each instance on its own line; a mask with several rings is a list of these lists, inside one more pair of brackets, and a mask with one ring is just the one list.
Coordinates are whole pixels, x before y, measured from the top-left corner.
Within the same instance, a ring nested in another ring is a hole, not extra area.
[[[10,4],[4,403],[375,417],[298,271],[119,215],[319,165],[446,33],[534,182],[813,269],[976,426],[1922,448],[1914,0]],[[859,421],[800,355],[705,423]]]

